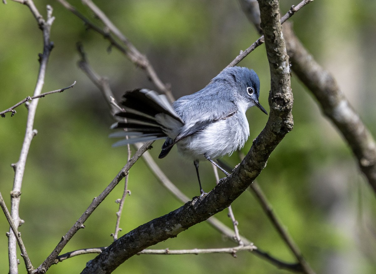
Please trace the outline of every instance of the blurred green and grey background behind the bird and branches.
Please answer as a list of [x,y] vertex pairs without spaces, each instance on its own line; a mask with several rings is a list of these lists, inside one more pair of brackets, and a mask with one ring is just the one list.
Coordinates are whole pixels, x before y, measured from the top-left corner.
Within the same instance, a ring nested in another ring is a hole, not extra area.
[[[42,51],[42,33],[26,6],[7,1],[0,6],[0,110],[27,96],[35,86]],[[92,22],[102,26],[78,0],[70,3]],[[247,21],[236,0],[232,1],[96,1],[124,35],[146,54],[174,97],[203,88],[240,50],[259,36]],[[282,1],[282,13],[296,5]],[[109,126],[113,118],[96,86],[77,67],[80,41],[94,70],[109,79],[117,98],[127,89],[155,88],[145,73],[131,64],[118,50],[108,52],[108,42],[56,1],[35,1],[45,17],[45,6],[52,5],[56,17],[52,26],[52,51],[43,92],[63,88],[77,81],[73,89],[39,100],[33,139],[24,174],[20,227],[24,244],[34,266],[38,266],[58,244],[96,197],[126,162],[126,148],[112,148]],[[334,74],[339,86],[376,135],[376,2],[314,1],[293,16],[294,29],[315,59]],[[239,65],[253,68],[260,76],[260,102],[267,106],[270,76],[265,47],[258,47]],[[271,154],[258,177],[274,211],[317,273],[376,272],[376,203],[356,161],[338,131],[324,119],[315,100],[292,77],[294,130]],[[24,138],[27,111],[0,119],[0,191],[10,208],[14,172]],[[262,130],[267,117],[250,109],[250,140]],[[167,176],[188,197],[198,194],[194,166],[179,157],[176,150],[158,160],[162,141],[150,151]],[[135,148],[132,148],[135,151]],[[238,154],[224,157],[232,166]],[[215,185],[212,167],[200,163],[203,188]],[[181,205],[162,188],[142,160],[130,170],[119,236],[164,215]],[[111,244],[122,184],[106,198],[64,248],[62,253]],[[271,226],[250,191],[234,203],[241,235],[260,249],[288,262],[294,257]],[[8,223],[0,214],[0,273],[8,272]],[[227,210],[217,218],[231,227]],[[208,224],[200,223],[177,238],[152,248],[191,249],[231,247]],[[48,273],[77,273],[95,255],[77,256],[53,265]],[[141,255],[133,256],[114,273],[288,273],[249,252],[228,254]],[[19,267],[24,271],[22,258]]]

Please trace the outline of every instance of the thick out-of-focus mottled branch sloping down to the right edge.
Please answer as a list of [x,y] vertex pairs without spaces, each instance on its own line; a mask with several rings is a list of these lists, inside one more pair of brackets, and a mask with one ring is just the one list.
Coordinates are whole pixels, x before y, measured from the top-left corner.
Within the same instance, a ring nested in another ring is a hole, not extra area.
[[358,166],[376,194],[376,143],[359,114],[352,108],[334,77],[325,71],[294,35],[284,28],[292,70],[316,97],[326,117],[341,132],[358,160]]

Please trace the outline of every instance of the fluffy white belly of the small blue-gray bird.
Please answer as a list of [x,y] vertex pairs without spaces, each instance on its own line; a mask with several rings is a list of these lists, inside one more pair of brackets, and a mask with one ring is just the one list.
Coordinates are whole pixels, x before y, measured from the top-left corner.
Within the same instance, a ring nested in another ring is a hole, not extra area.
[[215,159],[243,147],[248,136],[248,123],[242,127],[237,120],[221,120],[179,141],[177,149],[194,160],[205,156]]

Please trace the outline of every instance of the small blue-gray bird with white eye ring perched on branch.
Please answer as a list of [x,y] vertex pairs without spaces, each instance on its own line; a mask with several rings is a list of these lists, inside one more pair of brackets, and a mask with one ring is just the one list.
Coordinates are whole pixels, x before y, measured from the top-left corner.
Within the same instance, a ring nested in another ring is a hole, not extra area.
[[199,160],[208,159],[227,176],[212,159],[242,148],[249,137],[246,111],[257,106],[268,114],[258,101],[260,80],[255,71],[245,67],[225,68],[200,91],[177,99],[171,106],[165,95],[149,89],[136,89],[124,94],[124,111],[116,115],[126,118],[114,128],[123,132],[111,137],[129,138],[114,146],[166,139],[159,158],[165,157],[176,144],[177,150],[193,160],[199,176]]

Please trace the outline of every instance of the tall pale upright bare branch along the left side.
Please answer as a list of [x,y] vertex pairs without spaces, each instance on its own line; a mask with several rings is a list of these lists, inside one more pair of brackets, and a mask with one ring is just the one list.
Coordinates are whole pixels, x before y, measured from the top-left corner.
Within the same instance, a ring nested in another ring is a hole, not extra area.
[[[51,50],[53,48],[53,43],[50,41],[50,32],[51,32],[51,25],[55,20],[55,17],[52,16],[52,7],[47,5],[47,20],[44,20],[41,14],[36,9],[32,0],[24,0],[22,2],[26,5],[34,17],[38,22],[39,28],[42,30],[43,33],[43,53],[39,54],[39,72],[36,81],[36,86],[34,90],[33,96],[38,96],[41,94],[42,87],[44,84],[44,76],[47,67],[47,62],[49,60],[49,56]],[[19,215],[19,207],[20,207],[20,196],[21,196],[21,185],[23,180],[23,175],[26,166],[26,159],[27,154],[29,152],[30,144],[35,136],[35,130],[33,129],[34,118],[36,107],[38,105],[38,98],[33,100],[29,104],[28,108],[28,115],[27,115],[27,122],[26,122],[26,132],[25,138],[22,144],[20,158],[18,162],[12,164],[12,167],[15,170],[14,182],[13,182],[13,189],[11,192],[11,217],[14,221],[16,227],[18,227],[22,221]],[[18,263],[17,263],[17,238],[15,237],[13,230],[9,229],[9,239],[8,239],[8,254],[9,254],[9,273],[16,274],[18,273]],[[28,269],[30,271],[30,269]]]

